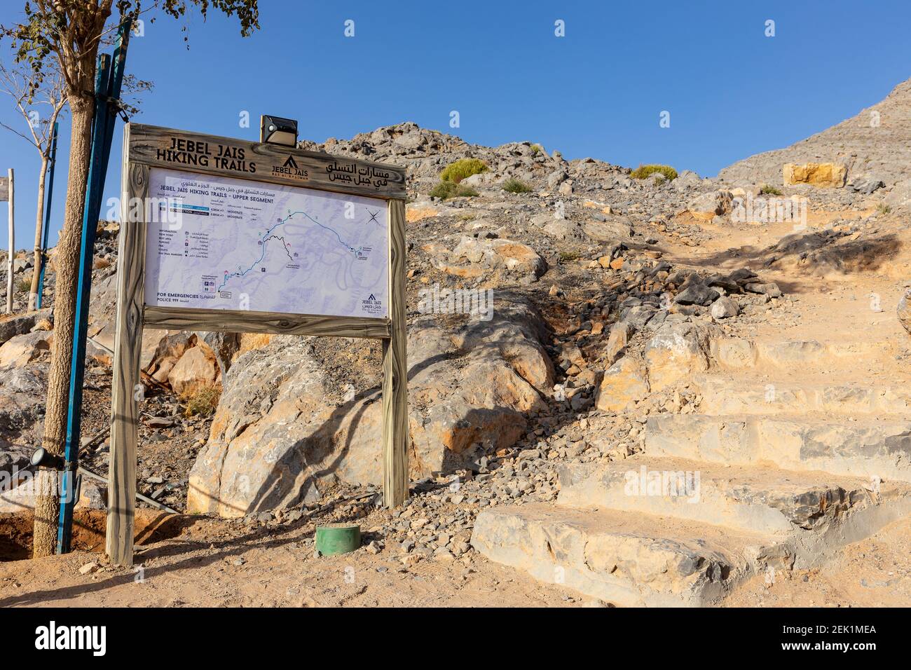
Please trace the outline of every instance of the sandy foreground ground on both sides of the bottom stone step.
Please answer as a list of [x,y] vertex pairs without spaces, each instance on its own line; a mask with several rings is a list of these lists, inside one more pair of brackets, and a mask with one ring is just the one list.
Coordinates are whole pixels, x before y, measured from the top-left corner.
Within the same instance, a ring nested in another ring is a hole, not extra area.
[[[363,520],[363,527],[370,523]],[[312,523],[281,531],[181,518],[179,536],[138,549],[133,569],[97,552],[0,563],[0,606],[20,607],[578,607],[589,596],[537,582],[475,552],[405,568],[404,554],[362,548],[313,555]],[[98,562],[98,572],[80,574]],[[901,607],[911,603],[911,520],[847,546],[830,565],[743,584],[726,607]]]

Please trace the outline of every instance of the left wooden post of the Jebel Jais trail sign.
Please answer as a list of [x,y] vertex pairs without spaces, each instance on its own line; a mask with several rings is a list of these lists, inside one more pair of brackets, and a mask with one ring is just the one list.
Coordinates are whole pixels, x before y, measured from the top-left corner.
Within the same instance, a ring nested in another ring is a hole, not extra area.
[[[129,150],[129,126],[124,132]],[[146,224],[143,207],[148,196],[148,166],[124,170],[118,250],[117,335],[111,390],[113,425],[107,485],[106,551],[115,565],[133,562],[133,515],[136,499],[136,445],[139,438],[139,351],[142,345],[142,307],[145,289]],[[139,200],[136,200],[139,199]]]

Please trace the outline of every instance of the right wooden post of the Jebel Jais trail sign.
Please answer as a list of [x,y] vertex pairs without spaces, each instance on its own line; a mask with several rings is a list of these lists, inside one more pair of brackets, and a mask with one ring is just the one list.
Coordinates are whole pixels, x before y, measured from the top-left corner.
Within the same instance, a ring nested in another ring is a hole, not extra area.
[[389,319],[383,341],[383,495],[386,507],[408,500],[408,363],[404,309],[404,201],[389,201]]

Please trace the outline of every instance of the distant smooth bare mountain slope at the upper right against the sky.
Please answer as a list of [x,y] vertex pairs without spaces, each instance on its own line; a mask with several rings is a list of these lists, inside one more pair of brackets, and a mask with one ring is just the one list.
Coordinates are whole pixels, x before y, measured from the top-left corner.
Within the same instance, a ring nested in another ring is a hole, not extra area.
[[911,179],[911,79],[851,119],[775,149],[740,160],[719,172],[725,184],[782,185],[784,163],[843,163],[849,183],[883,181],[907,197]]

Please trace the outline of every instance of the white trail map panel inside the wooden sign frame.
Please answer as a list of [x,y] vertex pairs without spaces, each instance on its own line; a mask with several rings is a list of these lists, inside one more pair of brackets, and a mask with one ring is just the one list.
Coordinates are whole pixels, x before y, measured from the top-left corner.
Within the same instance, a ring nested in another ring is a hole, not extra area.
[[386,201],[152,169],[145,304],[385,317]]

